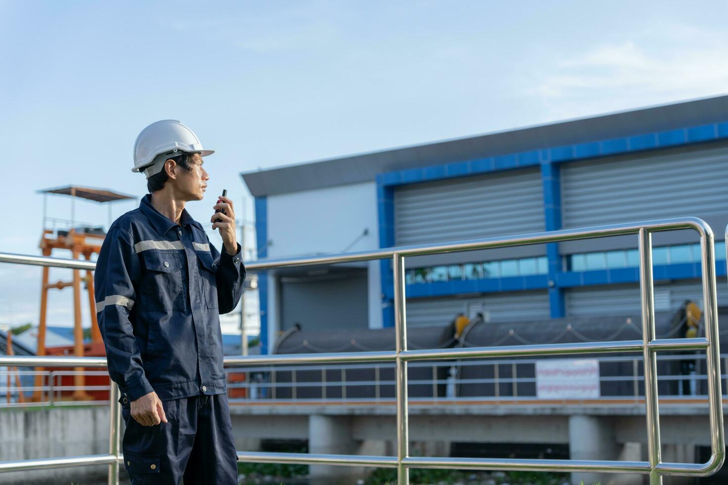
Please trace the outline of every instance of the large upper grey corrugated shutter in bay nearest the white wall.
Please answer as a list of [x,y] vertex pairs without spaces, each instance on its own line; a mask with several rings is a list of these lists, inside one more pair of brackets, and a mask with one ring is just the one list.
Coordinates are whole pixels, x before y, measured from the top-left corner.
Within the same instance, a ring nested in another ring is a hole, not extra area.
[[[539,169],[403,185],[395,191],[395,244],[462,241],[545,230]],[[542,245],[411,257],[408,267],[545,254]]]

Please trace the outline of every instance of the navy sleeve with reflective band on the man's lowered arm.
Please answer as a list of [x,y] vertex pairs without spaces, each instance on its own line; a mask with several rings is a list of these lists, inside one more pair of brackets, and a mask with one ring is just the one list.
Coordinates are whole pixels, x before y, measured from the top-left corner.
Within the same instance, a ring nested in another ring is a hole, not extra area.
[[96,317],[106,347],[108,374],[132,401],[151,393],[130,320],[141,267],[131,234],[112,228],[101,246],[94,272]]

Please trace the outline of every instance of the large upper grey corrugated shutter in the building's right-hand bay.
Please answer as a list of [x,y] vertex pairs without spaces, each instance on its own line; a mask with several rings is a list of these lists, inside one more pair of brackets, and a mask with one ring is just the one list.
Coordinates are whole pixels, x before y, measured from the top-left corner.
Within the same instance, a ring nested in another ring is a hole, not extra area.
[[[724,239],[728,143],[563,164],[563,228],[696,216]],[[657,233],[654,245],[697,242],[694,231]],[[636,236],[567,241],[562,254],[636,247]]]

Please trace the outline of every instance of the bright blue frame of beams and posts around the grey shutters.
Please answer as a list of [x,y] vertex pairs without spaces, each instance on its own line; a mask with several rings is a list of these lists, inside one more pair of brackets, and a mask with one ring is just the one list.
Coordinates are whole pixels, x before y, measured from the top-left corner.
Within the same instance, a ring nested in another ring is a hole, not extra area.
[[[572,145],[555,146],[539,150],[510,153],[469,161],[457,161],[416,169],[397,170],[376,176],[377,204],[379,214],[379,246],[395,245],[395,204],[394,190],[397,185],[432,182],[454,177],[480,175],[501,170],[541,166],[544,194],[545,223],[547,231],[561,228],[561,184],[559,164],[569,161],[591,159],[599,156],[613,156],[624,153],[672,148],[713,140],[728,139],[728,121],[684,127],[662,132],[651,132],[629,137]],[[257,200],[257,199],[256,199]],[[487,278],[483,280],[448,281],[429,284],[408,285],[408,297],[445,296],[448,294],[468,294],[523,289],[547,288],[551,316],[558,318],[566,314],[564,288],[595,284],[635,283],[639,281],[636,268],[585,271],[583,273],[563,272],[562,257],[558,244],[547,244],[549,262],[548,276],[534,275],[516,278]],[[726,274],[723,261],[716,262],[717,274]],[[699,278],[699,264],[675,264],[654,267],[654,279]],[[529,283],[519,283],[522,278],[531,278]],[[552,281],[553,284],[549,284]],[[382,322],[384,326],[394,325],[392,308],[392,264],[381,260]],[[262,321],[261,321],[262,325]]]

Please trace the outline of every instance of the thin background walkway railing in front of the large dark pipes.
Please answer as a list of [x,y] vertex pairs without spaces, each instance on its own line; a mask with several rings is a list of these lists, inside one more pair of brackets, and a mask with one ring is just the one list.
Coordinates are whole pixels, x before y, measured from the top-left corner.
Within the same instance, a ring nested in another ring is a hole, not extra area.
[[[728,369],[728,354],[721,354],[721,374],[723,384],[726,382]],[[638,356],[601,356],[595,359],[601,369],[598,373],[598,384],[600,385],[599,396],[589,398],[590,403],[601,402],[623,402],[631,399],[636,404],[644,397],[641,386],[644,385],[644,377],[639,372],[641,357]],[[409,396],[410,402],[418,404],[426,403],[429,406],[451,406],[452,404],[465,404],[467,401],[529,401],[531,404],[538,404],[537,394],[537,364],[542,359],[469,359],[461,362],[436,361],[432,364],[427,362],[414,362],[409,364],[410,371],[420,369],[419,377],[408,376],[408,387],[410,390],[419,390],[416,394],[419,397]],[[679,404],[680,398],[687,401],[702,399],[708,396],[708,375],[705,374],[705,361],[703,355],[663,355],[657,357],[657,362],[662,363],[663,371],[657,378],[662,383],[660,396],[670,398],[672,404]],[[694,368],[689,373],[684,373],[679,364],[688,362]],[[394,379],[394,364],[344,364],[344,365],[290,365],[290,366],[245,366],[227,367],[226,374],[242,374],[240,381],[228,377],[227,388],[231,404],[390,404],[393,397],[382,398],[382,391],[387,396],[394,396],[396,381]],[[497,370],[496,367],[502,370]],[[467,377],[456,377],[448,374],[450,369],[459,369],[467,372]],[[472,369],[468,372],[468,369]],[[480,377],[476,372],[487,369],[492,377]],[[518,370],[516,370],[518,369]],[[387,377],[382,377],[384,371]],[[352,373],[358,374],[352,378]],[[0,384],[0,408],[39,406],[42,404],[55,406],[73,406],[74,404],[98,404],[108,405],[106,398],[94,401],[74,400],[64,398],[63,393],[70,393],[75,390],[84,391],[108,391],[109,385],[83,385],[76,386],[72,383],[59,382],[59,378],[72,377],[78,374],[84,376],[105,376],[106,370],[98,371],[2,371],[0,370],[0,382],[7,375],[21,375],[21,385]],[[35,377],[40,374],[47,380],[46,385],[36,387]],[[273,379],[273,375],[279,377]],[[334,377],[331,377],[333,374]],[[266,377],[266,380],[256,379],[257,376]],[[391,377],[389,377],[391,375]],[[284,376],[283,378],[280,376]],[[23,380],[28,385],[23,385]],[[488,388],[485,388],[488,386]],[[727,389],[724,387],[723,389]],[[235,389],[245,390],[245,397],[235,397]],[[361,389],[357,392],[357,389]],[[41,390],[41,401],[20,402],[20,393],[30,395],[35,390]],[[275,392],[273,392],[275,390]],[[353,391],[352,391],[353,390]],[[3,394],[11,393],[15,401],[10,403],[1,399]],[[583,397],[562,397],[558,398],[568,404],[570,401],[582,402]],[[546,401],[551,401],[549,398]],[[683,401],[684,401],[683,400]]]

